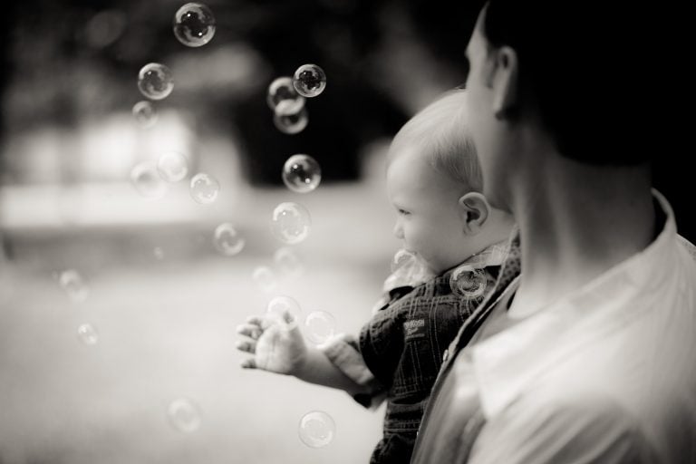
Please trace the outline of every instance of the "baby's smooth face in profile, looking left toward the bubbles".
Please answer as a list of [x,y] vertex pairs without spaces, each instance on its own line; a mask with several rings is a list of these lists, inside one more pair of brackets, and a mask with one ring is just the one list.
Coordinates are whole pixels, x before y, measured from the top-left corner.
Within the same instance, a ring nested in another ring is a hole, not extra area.
[[458,203],[464,192],[419,153],[395,155],[387,169],[387,195],[397,212],[394,236],[440,274],[471,254]]

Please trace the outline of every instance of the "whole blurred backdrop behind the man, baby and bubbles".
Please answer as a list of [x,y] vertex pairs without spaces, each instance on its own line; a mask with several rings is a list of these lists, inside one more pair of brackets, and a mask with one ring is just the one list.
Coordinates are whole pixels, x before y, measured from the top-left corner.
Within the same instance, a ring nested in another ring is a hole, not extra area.
[[[3,6],[1,464],[347,464],[367,462],[381,436],[382,410],[242,370],[235,327],[276,295],[303,318],[331,314],[337,332],[370,317],[399,246],[384,150],[465,81],[480,2],[212,0],[217,30],[198,48],[172,33],[183,4]],[[147,100],[137,80],[150,62],[169,66],[174,90],[143,124],[132,108]],[[286,134],[267,88],[304,63],[324,69],[326,88],[307,99],[304,131]],[[133,182],[131,169],[170,150],[188,159],[185,179]],[[285,188],[295,153],[321,165],[318,189]],[[688,171],[656,168],[693,240]],[[218,180],[215,201],[192,198],[198,172]],[[284,201],[312,218],[290,251],[269,231]],[[234,256],[216,247],[222,223],[245,239]],[[310,411],[335,424],[322,448],[300,437]]]

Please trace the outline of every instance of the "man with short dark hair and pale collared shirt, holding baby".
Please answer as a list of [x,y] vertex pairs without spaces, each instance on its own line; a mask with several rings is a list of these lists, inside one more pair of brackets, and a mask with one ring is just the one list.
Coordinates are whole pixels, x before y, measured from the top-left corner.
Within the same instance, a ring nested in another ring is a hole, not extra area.
[[484,193],[519,231],[411,462],[696,462],[694,248],[651,189],[661,89],[630,85],[661,50],[634,10],[593,5],[479,14],[467,111]]

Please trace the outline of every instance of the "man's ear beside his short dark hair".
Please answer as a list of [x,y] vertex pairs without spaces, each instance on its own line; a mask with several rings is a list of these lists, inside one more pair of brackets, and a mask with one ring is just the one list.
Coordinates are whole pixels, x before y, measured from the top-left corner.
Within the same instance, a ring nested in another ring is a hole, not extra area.
[[493,112],[500,120],[517,106],[517,52],[504,45],[488,53],[487,83],[493,92]]

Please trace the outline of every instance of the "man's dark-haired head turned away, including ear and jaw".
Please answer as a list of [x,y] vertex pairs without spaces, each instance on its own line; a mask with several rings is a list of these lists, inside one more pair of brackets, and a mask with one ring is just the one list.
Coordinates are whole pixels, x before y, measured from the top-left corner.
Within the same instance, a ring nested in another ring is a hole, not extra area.
[[556,0],[490,0],[481,10],[467,47],[468,111],[494,204],[508,206],[510,176],[528,168],[534,144],[588,165],[650,159],[654,115],[639,105],[650,96],[631,85],[646,58],[637,10]]

